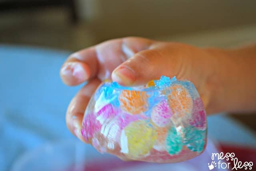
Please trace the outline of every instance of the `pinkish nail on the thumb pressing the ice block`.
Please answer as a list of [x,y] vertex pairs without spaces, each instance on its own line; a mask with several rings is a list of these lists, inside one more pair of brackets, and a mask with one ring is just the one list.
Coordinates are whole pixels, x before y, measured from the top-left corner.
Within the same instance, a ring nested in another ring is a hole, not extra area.
[[131,68],[120,66],[112,73],[112,79],[120,84],[131,85],[135,81],[135,74]]

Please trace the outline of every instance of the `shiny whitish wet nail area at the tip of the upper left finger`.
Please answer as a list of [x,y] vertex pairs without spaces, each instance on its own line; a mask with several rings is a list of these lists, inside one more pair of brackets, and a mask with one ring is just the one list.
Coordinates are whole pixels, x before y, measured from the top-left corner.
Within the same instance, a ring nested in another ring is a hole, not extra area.
[[75,77],[79,81],[86,80],[86,73],[82,66],[77,62],[70,62],[66,64],[61,70],[63,75],[68,77]]

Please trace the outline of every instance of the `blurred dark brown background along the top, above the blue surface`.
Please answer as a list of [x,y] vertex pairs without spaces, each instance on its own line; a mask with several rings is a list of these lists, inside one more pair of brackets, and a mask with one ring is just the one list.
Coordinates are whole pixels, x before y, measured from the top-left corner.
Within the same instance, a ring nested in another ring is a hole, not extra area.
[[[0,0],[0,2],[0,41],[8,44],[74,51],[123,36],[179,40],[176,38],[186,38],[194,33],[242,28],[245,36],[237,35],[236,32],[233,32],[232,36],[228,35],[232,38],[221,36],[226,37],[226,46],[228,43],[232,46],[238,42],[244,43],[239,39],[241,37],[247,41],[248,37],[255,36],[255,34],[248,36],[246,30],[246,28],[253,29],[256,23],[254,0],[246,2],[240,0],[224,2],[221,0],[214,2]],[[198,38],[197,41],[199,40]],[[197,41],[191,43],[199,44]],[[209,43],[202,45],[209,46]]]

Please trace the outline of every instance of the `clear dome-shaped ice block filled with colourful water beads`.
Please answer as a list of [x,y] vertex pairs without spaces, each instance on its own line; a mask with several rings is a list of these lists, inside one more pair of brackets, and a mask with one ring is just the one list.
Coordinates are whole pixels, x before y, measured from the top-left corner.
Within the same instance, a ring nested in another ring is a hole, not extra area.
[[195,86],[162,76],[144,87],[104,82],[91,97],[82,135],[120,158],[172,163],[202,153],[206,113]]

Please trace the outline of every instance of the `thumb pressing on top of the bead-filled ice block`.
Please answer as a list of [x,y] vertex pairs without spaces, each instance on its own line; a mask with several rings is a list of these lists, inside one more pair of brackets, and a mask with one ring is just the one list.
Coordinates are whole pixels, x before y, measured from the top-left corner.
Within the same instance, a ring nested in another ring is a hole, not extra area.
[[[167,48],[168,49],[168,48]],[[153,48],[136,53],[112,72],[112,80],[121,85],[144,85],[160,76],[177,76],[182,59],[172,56],[166,48]]]

